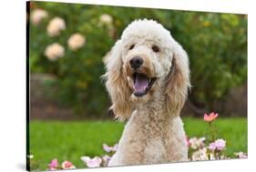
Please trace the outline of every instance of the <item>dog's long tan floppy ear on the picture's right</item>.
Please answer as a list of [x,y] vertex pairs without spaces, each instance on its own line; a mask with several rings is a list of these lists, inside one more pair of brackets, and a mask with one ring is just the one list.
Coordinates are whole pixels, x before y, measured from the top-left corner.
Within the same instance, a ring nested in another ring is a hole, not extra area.
[[189,59],[185,50],[178,43],[175,44],[172,53],[172,65],[166,86],[167,110],[168,113],[179,116],[190,87]]

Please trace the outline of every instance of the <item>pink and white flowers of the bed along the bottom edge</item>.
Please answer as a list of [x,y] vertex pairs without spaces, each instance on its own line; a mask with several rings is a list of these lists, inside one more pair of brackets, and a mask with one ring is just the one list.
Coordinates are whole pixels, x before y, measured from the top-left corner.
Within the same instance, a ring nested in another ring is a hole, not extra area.
[[[187,145],[189,147],[189,161],[200,161],[200,160],[216,160],[216,159],[230,159],[231,157],[225,155],[225,149],[229,143],[225,139],[217,136],[217,126],[215,126],[214,121],[218,118],[218,114],[210,113],[210,115],[205,114],[203,119],[208,124],[206,130],[209,134],[207,137],[187,137]],[[102,148],[106,152],[106,155],[97,157],[80,157],[81,161],[84,162],[85,167],[108,167],[108,161],[118,150],[118,144],[113,147],[109,147],[107,144],[103,144]],[[237,158],[246,158],[247,153],[235,152],[233,155]],[[33,156],[30,155],[31,161],[33,161]],[[47,166],[48,170],[56,169],[72,169],[76,166],[68,160],[59,163],[56,158],[54,158]]]

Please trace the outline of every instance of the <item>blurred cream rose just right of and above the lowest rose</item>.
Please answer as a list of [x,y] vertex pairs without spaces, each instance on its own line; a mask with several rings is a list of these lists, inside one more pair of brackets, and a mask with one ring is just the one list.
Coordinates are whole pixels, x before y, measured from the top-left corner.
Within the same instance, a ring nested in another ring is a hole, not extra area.
[[86,43],[86,38],[80,34],[73,34],[67,40],[67,44],[69,48],[74,51],[84,46],[85,43]]

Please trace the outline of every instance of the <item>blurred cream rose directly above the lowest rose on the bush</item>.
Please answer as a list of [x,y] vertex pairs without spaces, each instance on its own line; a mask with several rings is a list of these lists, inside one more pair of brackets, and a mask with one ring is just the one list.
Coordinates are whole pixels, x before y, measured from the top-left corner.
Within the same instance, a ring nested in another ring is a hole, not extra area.
[[60,34],[60,31],[66,29],[65,21],[60,17],[53,18],[47,25],[47,33],[50,36],[56,36]]

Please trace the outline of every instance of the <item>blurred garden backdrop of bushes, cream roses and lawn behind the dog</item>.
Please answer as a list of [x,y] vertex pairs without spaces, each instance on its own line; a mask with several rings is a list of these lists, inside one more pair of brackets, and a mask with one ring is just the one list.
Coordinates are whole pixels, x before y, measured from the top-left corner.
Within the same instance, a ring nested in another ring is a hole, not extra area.
[[247,15],[49,2],[27,9],[33,169],[55,157],[83,167],[79,157],[118,142],[124,124],[108,111],[100,76],[104,56],[138,18],[157,20],[188,52],[187,134],[205,135],[201,117],[217,112],[227,153],[247,151]]

